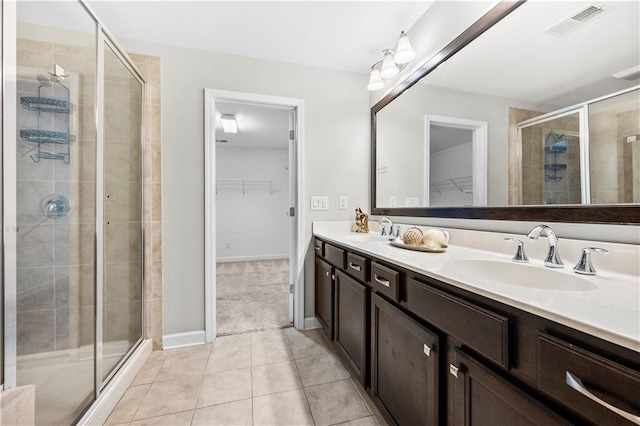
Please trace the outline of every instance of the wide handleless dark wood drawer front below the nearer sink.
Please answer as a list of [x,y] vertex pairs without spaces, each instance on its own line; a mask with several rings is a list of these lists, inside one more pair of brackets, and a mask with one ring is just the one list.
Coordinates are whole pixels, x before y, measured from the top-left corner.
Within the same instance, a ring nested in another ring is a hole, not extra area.
[[411,278],[406,299],[410,311],[509,369],[508,318]]

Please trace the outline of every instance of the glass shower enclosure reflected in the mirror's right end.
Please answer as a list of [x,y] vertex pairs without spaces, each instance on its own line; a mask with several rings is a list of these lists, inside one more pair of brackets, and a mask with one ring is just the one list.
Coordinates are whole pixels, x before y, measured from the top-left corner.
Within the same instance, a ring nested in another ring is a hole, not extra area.
[[517,204],[640,202],[640,89],[517,125]]

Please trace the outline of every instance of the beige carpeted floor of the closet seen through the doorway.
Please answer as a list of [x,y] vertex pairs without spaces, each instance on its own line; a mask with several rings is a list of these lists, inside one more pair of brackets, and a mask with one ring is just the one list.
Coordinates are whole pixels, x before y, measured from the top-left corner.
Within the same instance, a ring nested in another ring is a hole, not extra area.
[[289,260],[216,265],[218,336],[290,327]]

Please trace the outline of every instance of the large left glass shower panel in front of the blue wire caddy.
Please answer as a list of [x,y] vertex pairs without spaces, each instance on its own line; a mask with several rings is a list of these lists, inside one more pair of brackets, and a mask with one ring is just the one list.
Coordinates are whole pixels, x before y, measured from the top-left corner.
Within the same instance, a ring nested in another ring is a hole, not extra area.
[[96,23],[17,2],[16,32],[15,384],[36,423],[71,424],[95,396]]

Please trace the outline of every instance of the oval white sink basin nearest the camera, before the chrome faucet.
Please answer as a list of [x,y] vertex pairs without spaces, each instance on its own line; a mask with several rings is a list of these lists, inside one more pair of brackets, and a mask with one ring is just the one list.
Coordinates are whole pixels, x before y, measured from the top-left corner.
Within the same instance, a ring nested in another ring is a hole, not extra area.
[[555,291],[594,290],[596,285],[573,273],[561,272],[523,263],[494,260],[452,260],[445,267],[452,278],[474,281],[495,281],[523,288]]

